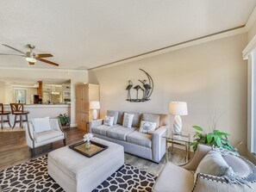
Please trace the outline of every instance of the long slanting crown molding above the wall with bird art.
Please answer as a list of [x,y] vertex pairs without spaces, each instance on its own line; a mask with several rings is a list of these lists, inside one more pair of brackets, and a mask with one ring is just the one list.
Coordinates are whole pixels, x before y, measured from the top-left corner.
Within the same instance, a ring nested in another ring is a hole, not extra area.
[[243,25],[238,28],[231,28],[231,29],[219,32],[219,33],[209,34],[209,35],[206,35],[206,36],[203,36],[203,37],[200,37],[197,39],[193,39],[193,40],[187,40],[187,41],[184,41],[182,43],[178,43],[178,44],[175,44],[172,46],[166,46],[164,48],[153,50],[148,53],[142,53],[142,54],[139,54],[139,55],[127,58],[127,59],[121,59],[121,60],[111,62],[109,64],[100,65],[100,66],[88,69],[88,71],[102,70],[105,68],[109,68],[109,67],[116,66],[116,65],[126,64],[126,63],[133,62],[133,61],[140,60],[140,59],[147,59],[147,58],[150,58],[153,56],[157,56],[159,54],[169,53],[172,51],[176,51],[178,49],[186,48],[189,46],[196,46],[196,45],[199,45],[199,44],[202,44],[205,42],[209,42],[212,40],[220,40],[222,38],[226,38],[226,37],[233,36],[236,34],[243,34],[246,32],[247,32],[247,28],[245,27],[245,25]]

